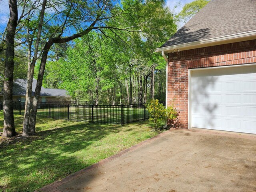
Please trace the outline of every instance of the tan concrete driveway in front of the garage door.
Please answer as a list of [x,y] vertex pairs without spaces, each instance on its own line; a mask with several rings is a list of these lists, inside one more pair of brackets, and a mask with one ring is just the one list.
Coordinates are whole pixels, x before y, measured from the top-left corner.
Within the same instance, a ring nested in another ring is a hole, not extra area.
[[167,131],[41,191],[255,192],[256,136]]

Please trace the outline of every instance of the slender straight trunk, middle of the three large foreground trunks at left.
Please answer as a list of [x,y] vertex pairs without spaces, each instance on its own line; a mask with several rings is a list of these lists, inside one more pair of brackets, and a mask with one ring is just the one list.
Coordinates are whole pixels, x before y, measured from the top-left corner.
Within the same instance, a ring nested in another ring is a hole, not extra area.
[[[24,112],[24,121],[23,121],[23,137],[28,137],[29,134],[35,134],[35,129],[29,129],[29,118],[30,118],[30,110],[31,110],[31,100],[32,100],[32,84],[33,84],[33,76],[34,76],[34,69],[36,65],[36,59],[38,54],[38,48],[41,38],[41,32],[42,32],[42,26],[44,22],[44,11],[46,7],[47,0],[44,0],[42,3],[42,9],[40,11],[39,15],[39,24],[38,24],[38,32],[36,36],[36,45],[34,50],[34,57],[32,59],[32,62],[30,62],[30,56],[31,56],[31,48],[32,48],[32,41],[31,39],[29,48],[29,58],[28,58],[28,80],[27,80],[27,89],[26,89],[26,102],[25,102],[25,112]],[[29,35],[29,34],[28,34]],[[32,37],[33,38],[33,37]]]

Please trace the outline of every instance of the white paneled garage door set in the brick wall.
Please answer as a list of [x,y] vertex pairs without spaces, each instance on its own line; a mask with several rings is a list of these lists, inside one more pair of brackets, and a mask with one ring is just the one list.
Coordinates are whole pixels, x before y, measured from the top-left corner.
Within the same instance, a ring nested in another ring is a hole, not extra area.
[[256,134],[256,66],[191,71],[195,128]]

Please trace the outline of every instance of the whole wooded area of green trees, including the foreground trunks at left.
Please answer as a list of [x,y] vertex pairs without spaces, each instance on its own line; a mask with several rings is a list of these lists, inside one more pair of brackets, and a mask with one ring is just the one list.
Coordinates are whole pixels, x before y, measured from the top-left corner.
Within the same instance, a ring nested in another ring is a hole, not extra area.
[[16,134],[15,77],[28,81],[24,137],[35,133],[42,85],[95,104],[164,101],[166,62],[154,50],[176,32],[178,20],[165,0],[9,0],[9,8],[0,33],[3,136]]

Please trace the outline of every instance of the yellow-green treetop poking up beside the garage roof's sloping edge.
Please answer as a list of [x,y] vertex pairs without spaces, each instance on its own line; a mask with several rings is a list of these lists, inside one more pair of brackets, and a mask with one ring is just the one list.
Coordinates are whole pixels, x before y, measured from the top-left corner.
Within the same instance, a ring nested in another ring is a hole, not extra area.
[[195,0],[191,3],[185,4],[181,12],[178,14],[178,20],[186,23],[190,20],[200,9],[206,6],[210,0]]

